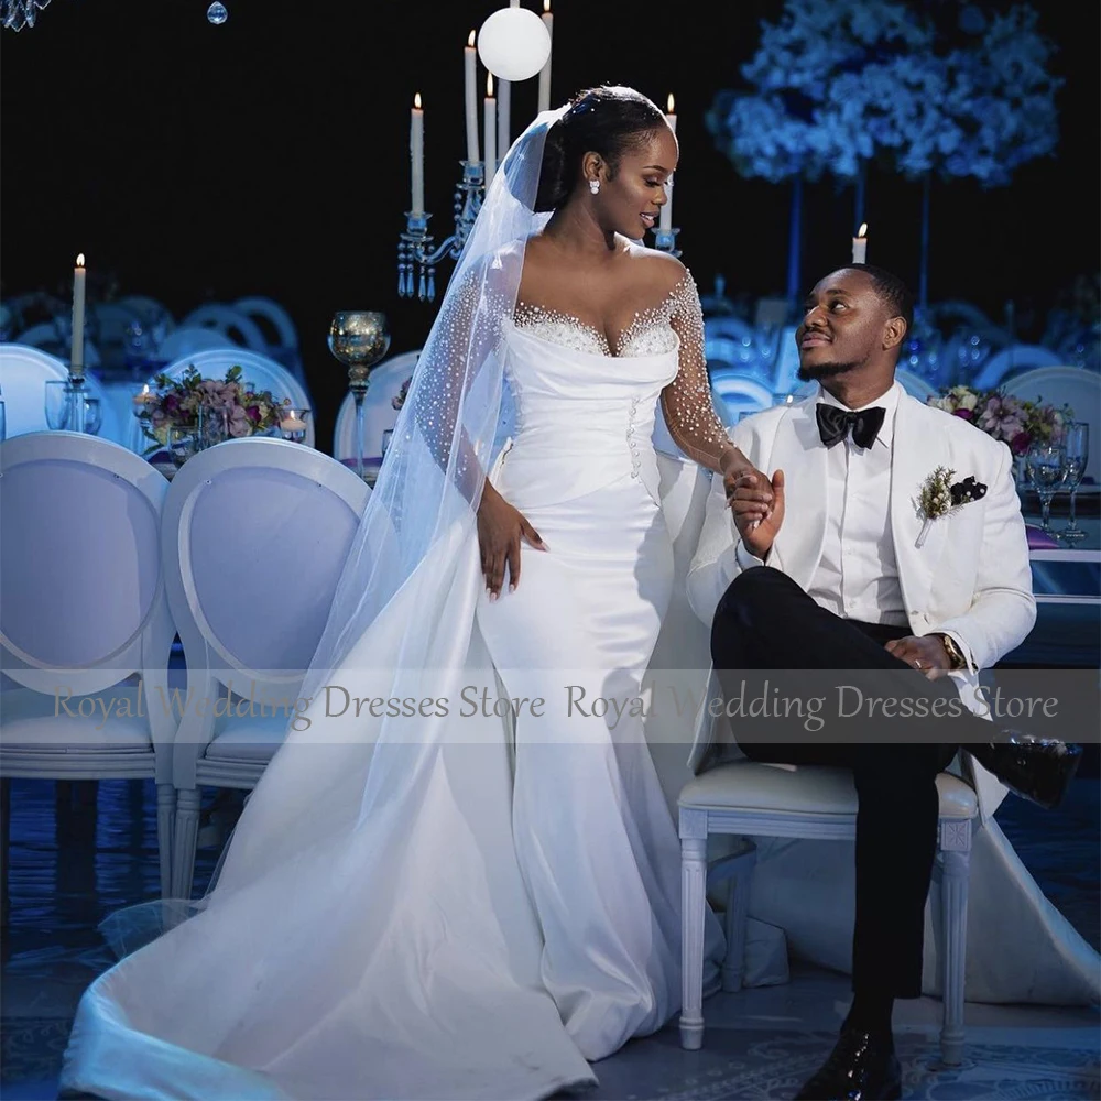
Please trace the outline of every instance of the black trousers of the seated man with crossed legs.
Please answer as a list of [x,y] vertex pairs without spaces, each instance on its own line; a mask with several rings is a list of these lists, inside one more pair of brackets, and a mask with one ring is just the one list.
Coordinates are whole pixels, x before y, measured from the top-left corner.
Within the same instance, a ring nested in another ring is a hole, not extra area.
[[[924,699],[930,713],[938,699],[946,705],[955,699],[958,709],[959,694],[950,678],[928,680],[883,648],[891,639],[909,633],[840,619],[786,574],[757,567],[740,574],[720,601],[711,657],[728,701],[739,694],[744,697],[746,680],[751,691],[775,696],[778,689],[794,698],[808,682],[819,688],[832,679],[865,697]],[[753,671],[767,671],[767,686],[754,679]],[[920,996],[925,902],[939,817],[936,777],[956,755],[951,735],[962,733],[957,721],[983,720],[968,712],[958,720],[918,720],[915,726],[908,719],[884,721],[881,715],[863,728],[844,727],[843,741],[815,743],[794,740],[798,718],[786,724],[777,724],[774,717],[732,720],[738,746],[752,760],[852,770],[859,799],[852,949],[857,992]],[[923,740],[903,740],[907,730],[919,730]],[[939,737],[944,740],[935,740]]]

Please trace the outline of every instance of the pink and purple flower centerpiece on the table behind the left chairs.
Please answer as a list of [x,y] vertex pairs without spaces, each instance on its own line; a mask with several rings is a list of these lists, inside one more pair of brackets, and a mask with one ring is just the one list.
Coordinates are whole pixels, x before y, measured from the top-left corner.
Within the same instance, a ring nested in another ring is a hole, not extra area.
[[249,390],[241,382],[241,368],[231,367],[224,379],[204,379],[195,367],[188,367],[179,379],[157,374],[155,390],[145,395],[142,428],[154,440],[150,450],[164,446],[168,429],[200,429],[216,422],[225,426],[230,438],[254,436],[279,426],[282,411],[290,397],[272,396],[270,390]]

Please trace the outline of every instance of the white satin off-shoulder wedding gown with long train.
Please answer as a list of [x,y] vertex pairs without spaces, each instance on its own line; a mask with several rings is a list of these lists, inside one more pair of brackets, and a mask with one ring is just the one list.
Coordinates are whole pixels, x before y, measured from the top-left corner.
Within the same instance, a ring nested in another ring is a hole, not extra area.
[[[673,578],[651,432],[684,360],[671,316],[686,296],[698,318],[685,276],[615,356],[559,315],[521,306],[503,326],[517,424],[492,479],[548,549],[525,546],[497,601],[477,539],[445,537],[422,564],[446,592],[432,695],[457,704],[488,675],[543,698],[542,716],[521,708],[512,727],[453,707],[372,763],[370,731],[345,737],[315,698],[205,908],[86,992],[65,1088],[542,1098],[595,1081],[590,1061],[677,1012],[679,842],[642,719],[568,715],[566,693],[642,691]],[[428,611],[412,600],[388,606],[347,678]]]

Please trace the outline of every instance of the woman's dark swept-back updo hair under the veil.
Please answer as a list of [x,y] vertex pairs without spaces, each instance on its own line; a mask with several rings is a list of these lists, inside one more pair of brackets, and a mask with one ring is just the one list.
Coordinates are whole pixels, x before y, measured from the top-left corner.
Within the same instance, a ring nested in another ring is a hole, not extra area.
[[601,85],[578,92],[547,131],[536,211],[554,210],[569,198],[586,153],[599,153],[614,177],[620,157],[667,124],[658,106],[634,88]]

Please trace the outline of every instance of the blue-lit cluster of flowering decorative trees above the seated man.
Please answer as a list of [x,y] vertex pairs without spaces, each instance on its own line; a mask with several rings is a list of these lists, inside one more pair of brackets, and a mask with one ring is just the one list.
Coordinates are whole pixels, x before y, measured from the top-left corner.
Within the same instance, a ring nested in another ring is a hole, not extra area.
[[1053,46],[1036,32],[1036,12],[955,10],[949,29],[901,0],[786,0],[742,66],[751,88],[716,96],[707,122],[737,171],[793,182],[789,299],[799,292],[804,181],[853,182],[853,228],[864,220],[870,161],[922,181],[924,307],[933,175],[1000,186],[1054,151],[1062,81],[1047,72]]

